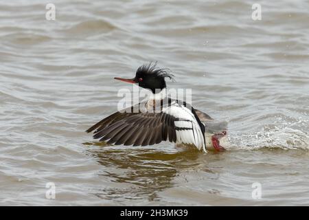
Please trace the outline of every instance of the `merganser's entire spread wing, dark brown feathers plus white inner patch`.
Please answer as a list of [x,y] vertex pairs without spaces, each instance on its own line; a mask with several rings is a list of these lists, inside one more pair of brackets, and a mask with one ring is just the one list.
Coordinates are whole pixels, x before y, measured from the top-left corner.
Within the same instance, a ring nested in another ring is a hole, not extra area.
[[[91,126],[93,137],[108,144],[146,146],[170,141],[190,144],[206,151],[205,127],[187,104],[168,98],[161,111],[146,111],[153,100],[146,100],[124,111],[117,111]],[[133,111],[133,109],[139,111]],[[194,111],[194,109],[192,109]]]

